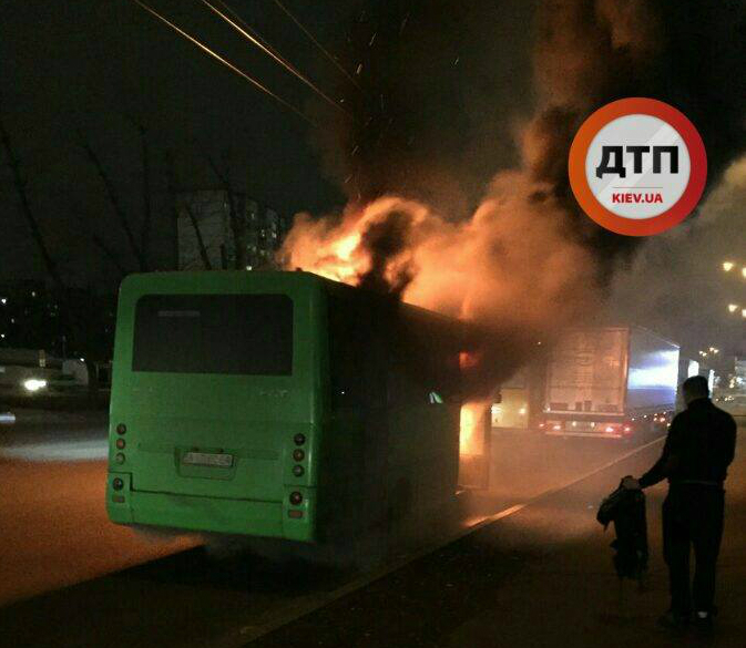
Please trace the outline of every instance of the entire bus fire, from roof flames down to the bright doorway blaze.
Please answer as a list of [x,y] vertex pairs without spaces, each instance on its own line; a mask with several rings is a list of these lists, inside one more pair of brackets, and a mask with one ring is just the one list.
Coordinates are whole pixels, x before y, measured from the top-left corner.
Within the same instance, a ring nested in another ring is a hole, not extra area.
[[[279,260],[476,322],[473,330],[489,335],[470,340],[459,362],[466,399],[481,402],[538,340],[551,340],[597,301],[595,263],[578,227],[584,222],[570,217],[562,193],[534,168],[556,157],[545,140],[541,128],[523,130],[520,167],[498,173],[470,217],[397,195],[321,218],[303,213]],[[471,403],[464,412],[461,445],[471,448]]]

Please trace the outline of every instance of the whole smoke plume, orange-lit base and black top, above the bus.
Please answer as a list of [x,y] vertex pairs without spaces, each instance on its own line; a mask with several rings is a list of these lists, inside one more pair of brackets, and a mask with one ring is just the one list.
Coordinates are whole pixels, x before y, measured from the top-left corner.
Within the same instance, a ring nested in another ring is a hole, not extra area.
[[[593,110],[623,96],[672,103],[698,127],[711,179],[743,150],[744,100],[728,81],[739,3],[538,2],[532,81],[508,86],[498,59],[525,43],[494,34],[500,21],[520,23],[519,2],[470,2],[460,14],[444,0],[385,4],[350,30],[364,92],[349,97],[356,119],[335,156],[349,204],[299,215],[283,257],[488,327],[499,381],[589,312],[638,243],[596,226],[570,192],[570,143]],[[532,93],[531,107],[514,89]]]

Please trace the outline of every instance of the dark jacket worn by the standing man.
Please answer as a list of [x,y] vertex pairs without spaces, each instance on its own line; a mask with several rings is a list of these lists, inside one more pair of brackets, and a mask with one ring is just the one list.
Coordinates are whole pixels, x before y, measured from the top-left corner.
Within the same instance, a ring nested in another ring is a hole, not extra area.
[[645,488],[667,479],[671,485],[722,486],[736,450],[736,423],[709,399],[692,401],[671,423],[663,454],[640,477]]

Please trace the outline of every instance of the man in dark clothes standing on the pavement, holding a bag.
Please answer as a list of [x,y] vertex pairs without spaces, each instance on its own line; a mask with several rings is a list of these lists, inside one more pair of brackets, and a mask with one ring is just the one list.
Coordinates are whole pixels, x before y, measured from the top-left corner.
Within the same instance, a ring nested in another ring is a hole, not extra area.
[[[707,380],[702,376],[685,380],[682,392],[686,410],[672,421],[661,459],[640,480],[625,477],[622,485],[645,488],[668,480],[668,496],[663,503],[663,555],[668,565],[671,609],[660,623],[682,628],[694,611],[694,623],[708,630],[723,536],[723,483],[735,453],[736,423],[712,403]],[[696,569],[689,588],[692,546]]]

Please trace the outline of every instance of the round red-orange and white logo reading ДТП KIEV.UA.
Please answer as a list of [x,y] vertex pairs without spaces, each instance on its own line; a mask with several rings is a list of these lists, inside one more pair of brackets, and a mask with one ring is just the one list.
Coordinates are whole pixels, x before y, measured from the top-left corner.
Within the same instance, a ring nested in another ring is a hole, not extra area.
[[626,236],[660,234],[702,197],[707,155],[694,124],[675,107],[645,97],[595,111],[570,147],[570,185],[583,210]]

